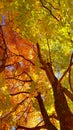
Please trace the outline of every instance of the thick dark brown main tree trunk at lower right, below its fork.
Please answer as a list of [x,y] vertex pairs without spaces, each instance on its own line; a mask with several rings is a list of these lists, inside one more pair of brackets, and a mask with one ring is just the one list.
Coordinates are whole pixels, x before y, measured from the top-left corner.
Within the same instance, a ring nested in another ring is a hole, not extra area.
[[68,107],[66,97],[61,90],[61,84],[57,88],[58,80],[55,78],[55,83],[52,85],[55,100],[55,110],[60,121],[61,130],[73,130],[73,114]]

